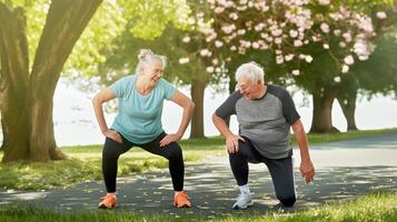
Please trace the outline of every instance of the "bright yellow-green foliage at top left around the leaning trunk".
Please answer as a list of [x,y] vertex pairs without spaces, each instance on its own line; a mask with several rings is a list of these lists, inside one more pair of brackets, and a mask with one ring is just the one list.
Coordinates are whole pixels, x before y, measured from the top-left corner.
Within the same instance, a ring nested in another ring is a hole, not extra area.
[[[10,8],[22,7],[27,17],[30,67],[46,23],[50,0],[2,0]],[[123,31],[140,39],[155,39],[171,24],[187,28],[189,8],[185,0],[105,0],[76,43],[63,67],[71,78],[91,77],[106,61],[105,52]],[[61,42],[60,42],[61,43]]]

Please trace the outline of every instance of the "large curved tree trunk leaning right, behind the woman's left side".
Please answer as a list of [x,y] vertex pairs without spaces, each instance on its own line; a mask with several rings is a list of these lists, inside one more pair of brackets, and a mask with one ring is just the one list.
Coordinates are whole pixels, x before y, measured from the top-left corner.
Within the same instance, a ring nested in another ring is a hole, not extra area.
[[31,159],[34,161],[66,158],[57,148],[53,137],[53,93],[66,60],[100,2],[100,0],[54,0],[51,3],[30,81],[32,117],[30,150]]

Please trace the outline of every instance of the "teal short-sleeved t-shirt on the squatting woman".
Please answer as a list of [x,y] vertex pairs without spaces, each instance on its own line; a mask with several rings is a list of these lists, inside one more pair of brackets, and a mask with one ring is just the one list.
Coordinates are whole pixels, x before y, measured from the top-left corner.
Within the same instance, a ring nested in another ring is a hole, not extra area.
[[170,100],[176,88],[160,79],[149,94],[140,94],[136,89],[137,75],[128,75],[110,85],[118,98],[119,112],[111,129],[127,140],[143,144],[163,132],[161,124],[163,100]]

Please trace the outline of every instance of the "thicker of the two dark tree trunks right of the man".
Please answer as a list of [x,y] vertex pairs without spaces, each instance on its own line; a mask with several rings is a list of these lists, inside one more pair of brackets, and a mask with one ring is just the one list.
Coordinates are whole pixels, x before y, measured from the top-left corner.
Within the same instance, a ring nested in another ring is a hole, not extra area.
[[338,131],[333,127],[333,103],[337,95],[335,88],[327,88],[324,92],[312,93],[312,122],[310,132],[325,133]]

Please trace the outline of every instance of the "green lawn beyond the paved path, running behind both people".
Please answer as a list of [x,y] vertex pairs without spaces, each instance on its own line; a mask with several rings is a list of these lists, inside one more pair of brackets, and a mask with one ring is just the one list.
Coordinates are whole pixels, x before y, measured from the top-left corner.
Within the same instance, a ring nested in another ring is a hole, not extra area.
[[[368,138],[397,133],[397,129],[357,131],[345,133],[309,134],[310,144],[333,142],[356,138]],[[292,137],[292,143],[295,139]],[[195,162],[205,157],[226,155],[225,140],[220,137],[180,142],[186,162]],[[101,180],[101,145],[81,145],[62,148],[70,158],[52,163],[0,164],[0,188],[8,190],[43,190],[70,188],[77,183]],[[0,159],[2,152],[0,152]],[[166,168],[167,160],[150,154],[140,148],[121,155],[119,175],[130,175],[150,169]]]

